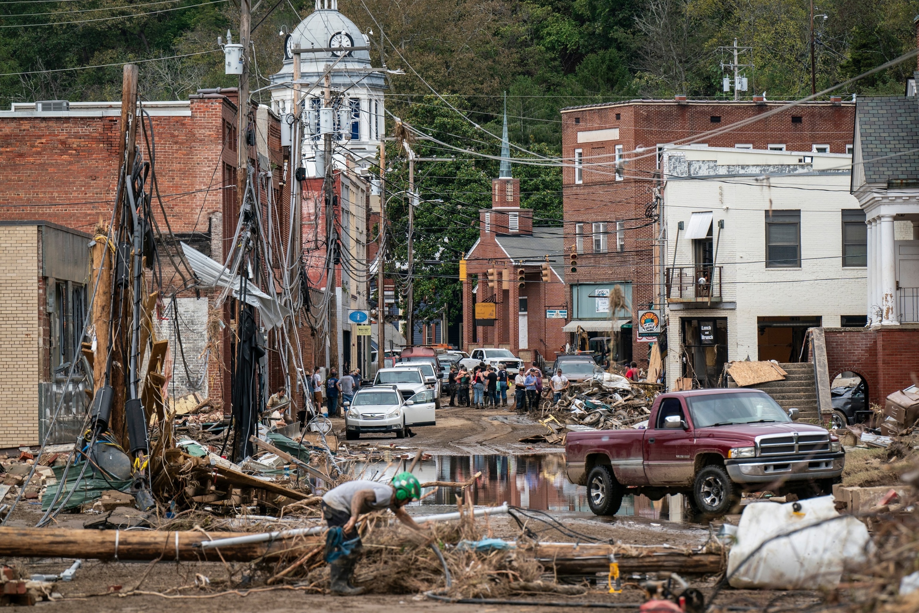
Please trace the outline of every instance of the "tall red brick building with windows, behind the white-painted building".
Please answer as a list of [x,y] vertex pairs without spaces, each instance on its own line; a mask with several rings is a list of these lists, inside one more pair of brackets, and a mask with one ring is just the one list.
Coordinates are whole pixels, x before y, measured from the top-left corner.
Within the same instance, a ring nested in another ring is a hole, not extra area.
[[[838,99],[800,104],[727,130],[783,104],[678,97],[562,109],[562,156],[570,161],[562,173],[564,253],[566,259],[572,251],[578,254],[576,272],[565,267],[570,295],[597,296],[596,289],[618,285],[631,315],[659,301],[655,264],[661,237],[654,187],[664,144],[850,153],[854,105]],[[628,313],[625,319],[623,337],[637,340]],[[646,352],[632,352],[628,343],[618,353],[619,361],[634,353],[647,363]]]

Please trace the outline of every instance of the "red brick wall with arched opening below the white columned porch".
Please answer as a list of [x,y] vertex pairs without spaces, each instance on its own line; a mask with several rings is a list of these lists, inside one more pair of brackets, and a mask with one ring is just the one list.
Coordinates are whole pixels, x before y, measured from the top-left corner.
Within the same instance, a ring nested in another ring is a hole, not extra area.
[[919,375],[919,325],[824,328],[830,381],[845,370],[868,381],[868,399],[883,405]]

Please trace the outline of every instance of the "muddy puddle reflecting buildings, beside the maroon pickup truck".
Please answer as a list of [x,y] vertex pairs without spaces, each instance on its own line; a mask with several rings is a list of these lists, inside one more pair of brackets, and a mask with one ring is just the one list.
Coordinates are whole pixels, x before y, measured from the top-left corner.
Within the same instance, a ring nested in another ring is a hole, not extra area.
[[[392,466],[381,477],[380,471],[385,467],[385,462],[375,462],[358,463],[355,468],[357,475],[363,472],[363,478],[379,481],[405,470],[402,465]],[[564,455],[560,453],[434,456],[430,460],[419,461],[414,474],[421,482],[465,482],[479,471],[482,471],[482,476],[472,488],[475,505],[501,505],[506,502],[525,509],[591,513],[587,505],[587,488],[568,481]],[[423,494],[428,492],[425,490]],[[456,505],[456,494],[459,494],[459,489],[438,488],[435,494],[413,505]],[[666,496],[655,502],[645,496],[627,495],[616,515],[682,521],[682,500],[671,498]]]

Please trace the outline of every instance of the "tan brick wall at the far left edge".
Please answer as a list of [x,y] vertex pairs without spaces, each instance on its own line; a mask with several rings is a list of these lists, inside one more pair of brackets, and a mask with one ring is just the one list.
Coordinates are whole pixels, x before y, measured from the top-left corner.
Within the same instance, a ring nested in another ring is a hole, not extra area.
[[0,448],[39,443],[39,229],[0,226]]

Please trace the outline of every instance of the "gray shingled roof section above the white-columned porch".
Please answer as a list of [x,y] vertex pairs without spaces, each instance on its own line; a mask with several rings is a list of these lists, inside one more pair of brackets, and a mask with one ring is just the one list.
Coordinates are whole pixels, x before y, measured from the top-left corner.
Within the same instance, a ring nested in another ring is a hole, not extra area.
[[[916,98],[858,98],[856,117],[863,160],[919,149],[919,101]],[[866,183],[906,179],[919,179],[919,152],[865,163]]]

